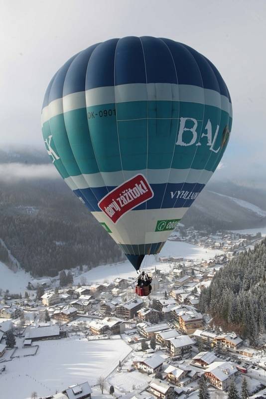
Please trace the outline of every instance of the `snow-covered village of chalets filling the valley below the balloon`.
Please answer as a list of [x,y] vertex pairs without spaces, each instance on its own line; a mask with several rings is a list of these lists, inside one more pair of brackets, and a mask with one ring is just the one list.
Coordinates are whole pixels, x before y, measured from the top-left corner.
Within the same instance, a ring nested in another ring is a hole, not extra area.
[[[169,241],[219,253],[157,256],[145,269],[152,277],[148,297],[135,295],[130,276],[92,284],[81,276],[76,284],[81,270],[32,279],[20,295],[2,292],[2,397],[13,397],[15,378],[17,399],[194,399],[202,376],[212,398],[226,398],[232,381],[240,389],[244,377],[250,396],[263,395],[265,349],[222,331],[199,310],[201,290],[217,270],[261,234],[206,234],[182,226],[173,232]],[[20,391],[22,375],[28,383]]]

